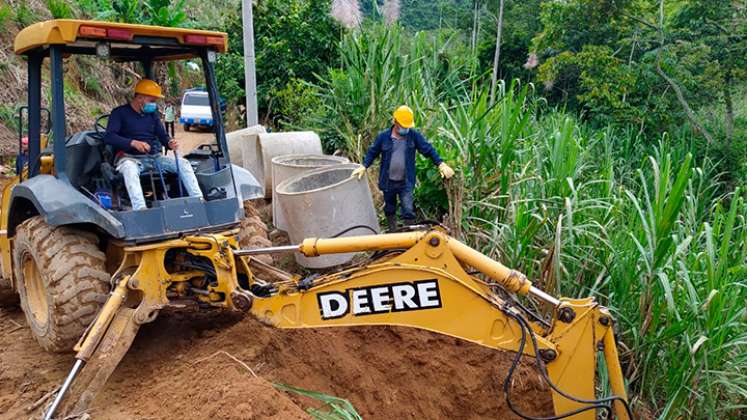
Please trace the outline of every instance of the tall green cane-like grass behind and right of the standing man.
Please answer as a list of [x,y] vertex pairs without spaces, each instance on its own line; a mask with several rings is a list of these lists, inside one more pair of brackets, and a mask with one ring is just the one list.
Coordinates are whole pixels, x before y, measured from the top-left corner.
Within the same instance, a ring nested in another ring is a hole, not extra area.
[[[548,109],[531,86],[489,105],[453,36],[363,28],[317,95],[353,159],[411,104],[458,175],[418,162],[417,204],[544,289],[597,297],[617,319],[638,409],[739,417],[747,407],[747,206],[686,133],[644,139]],[[466,51],[466,50],[465,50]],[[330,124],[331,122],[331,124]],[[700,156],[697,161],[692,156]]]

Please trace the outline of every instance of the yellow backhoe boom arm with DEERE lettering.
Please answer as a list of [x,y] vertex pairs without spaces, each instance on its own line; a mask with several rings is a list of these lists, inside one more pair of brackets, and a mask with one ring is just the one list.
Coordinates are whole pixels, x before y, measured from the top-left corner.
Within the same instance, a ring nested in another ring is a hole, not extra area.
[[[288,250],[290,248],[286,248]],[[274,283],[255,297],[251,312],[278,328],[397,325],[421,328],[486,347],[536,356],[544,362],[555,413],[589,407],[595,400],[597,352],[603,351],[615,414],[628,418],[612,318],[592,298],[556,299],[440,230],[335,239],[306,239],[296,250],[306,256],[373,250],[404,250],[371,264],[308,280]],[[239,251],[238,253],[241,253]],[[465,271],[471,267],[486,279]],[[500,286],[500,287],[499,287]],[[546,329],[501,297],[500,289],[529,294],[553,307]],[[533,338],[533,340],[530,340]],[[532,344],[536,341],[537,348]],[[586,402],[579,402],[586,401]],[[595,410],[571,418],[594,419]]]

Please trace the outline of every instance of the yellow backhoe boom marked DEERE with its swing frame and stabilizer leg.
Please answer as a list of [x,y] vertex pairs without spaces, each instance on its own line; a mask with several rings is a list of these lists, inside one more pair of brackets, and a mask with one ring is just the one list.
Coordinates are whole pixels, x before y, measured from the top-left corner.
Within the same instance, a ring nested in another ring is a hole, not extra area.
[[[215,281],[204,284],[205,273],[200,271],[170,272],[164,261],[172,249],[208,258],[215,267]],[[514,290],[526,294],[531,288],[528,280],[441,230],[308,239],[298,246],[298,252],[307,256],[361,250],[397,251],[394,256],[324,276],[265,283],[252,276],[251,257],[236,255],[239,252],[230,234],[126,247],[113,277],[116,287],[112,297],[76,346],[78,360],[90,363],[71,391],[74,398],[67,403],[67,410],[73,406],[73,412],[85,409],[95,396],[91,390],[100,388],[111,375],[139,325],[154,320],[174,296],[189,295],[193,283],[205,287],[202,294],[193,296],[201,302],[250,311],[261,322],[278,328],[397,325],[497,350],[521,351],[526,356],[539,353],[557,389],[581,400],[595,399],[601,351],[610,389],[623,400],[627,398],[612,318],[593,299],[560,299],[549,328],[527,322],[531,328],[527,331],[516,320],[523,315],[501,293]],[[469,274],[468,269],[478,269],[481,274]],[[243,289],[238,273],[247,276],[250,290],[259,285],[269,292],[260,296]],[[588,405],[554,390],[552,398],[559,415]],[[619,402],[615,403],[615,414],[628,418]],[[571,418],[595,417],[595,410],[588,410]]]

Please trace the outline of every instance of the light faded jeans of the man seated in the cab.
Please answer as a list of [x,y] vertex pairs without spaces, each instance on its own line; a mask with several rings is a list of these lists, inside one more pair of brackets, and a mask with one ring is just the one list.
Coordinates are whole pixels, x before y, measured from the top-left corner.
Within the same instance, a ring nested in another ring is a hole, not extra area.
[[[162,155],[125,156],[117,161],[117,171],[124,177],[125,188],[127,188],[127,194],[130,196],[133,210],[146,208],[143,187],[140,185],[140,172],[151,169],[158,172],[158,167],[155,166],[156,161],[158,161],[158,165],[161,166],[164,173],[176,173],[176,160],[172,157]],[[197,183],[192,165],[187,159],[179,158],[179,178],[190,197],[202,198],[202,190]]]

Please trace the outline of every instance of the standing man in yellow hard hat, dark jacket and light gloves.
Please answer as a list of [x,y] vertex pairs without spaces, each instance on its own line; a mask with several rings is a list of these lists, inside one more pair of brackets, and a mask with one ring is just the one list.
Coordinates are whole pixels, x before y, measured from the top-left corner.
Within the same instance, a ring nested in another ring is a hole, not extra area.
[[418,151],[438,166],[442,178],[454,176],[454,170],[438,155],[436,149],[415,127],[412,109],[402,105],[394,111],[392,126],[376,136],[366,152],[363,166],[353,171],[358,179],[366,173],[374,160],[381,155],[379,189],[384,193],[384,214],[389,230],[397,228],[397,199],[400,216],[405,224],[415,222],[415,204],[412,191],[415,188],[415,152]]

